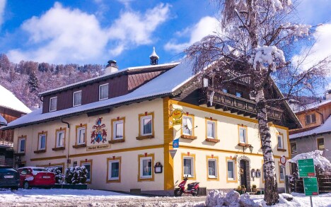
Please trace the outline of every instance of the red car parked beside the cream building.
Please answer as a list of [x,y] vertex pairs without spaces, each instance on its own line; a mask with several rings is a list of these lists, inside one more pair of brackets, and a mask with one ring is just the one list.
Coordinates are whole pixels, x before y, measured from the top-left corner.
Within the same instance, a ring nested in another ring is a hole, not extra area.
[[55,184],[55,174],[48,172],[45,167],[21,167],[17,170],[20,173],[20,187],[52,187]]

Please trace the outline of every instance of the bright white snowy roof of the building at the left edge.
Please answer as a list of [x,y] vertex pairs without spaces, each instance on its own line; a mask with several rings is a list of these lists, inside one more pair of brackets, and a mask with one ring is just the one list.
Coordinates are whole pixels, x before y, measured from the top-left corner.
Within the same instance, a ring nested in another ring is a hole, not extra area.
[[31,110],[9,90],[0,85],[0,106],[28,114]]

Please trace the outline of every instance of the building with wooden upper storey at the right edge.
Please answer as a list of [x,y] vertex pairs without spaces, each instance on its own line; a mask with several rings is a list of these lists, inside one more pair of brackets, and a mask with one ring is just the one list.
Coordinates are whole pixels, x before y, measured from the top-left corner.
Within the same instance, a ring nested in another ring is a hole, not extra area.
[[323,150],[323,156],[331,160],[331,90],[327,90],[326,100],[298,107],[294,112],[303,128],[289,132],[291,155]]

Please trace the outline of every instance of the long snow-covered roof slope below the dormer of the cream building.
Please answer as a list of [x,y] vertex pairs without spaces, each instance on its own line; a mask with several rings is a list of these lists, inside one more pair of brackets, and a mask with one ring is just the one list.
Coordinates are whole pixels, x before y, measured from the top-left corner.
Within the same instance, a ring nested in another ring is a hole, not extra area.
[[57,119],[59,117],[66,117],[71,114],[86,113],[88,111],[103,109],[106,107],[112,107],[116,105],[121,105],[124,102],[134,102],[136,100],[141,100],[149,97],[156,97],[160,95],[168,95],[173,93],[175,90],[180,88],[180,86],[190,81],[194,75],[192,75],[192,62],[182,61],[180,64],[176,63],[177,66],[173,67],[161,74],[160,76],[154,78],[148,83],[141,85],[132,93],[127,95],[122,95],[119,97],[113,97],[108,100],[101,100],[98,102],[92,102],[86,105],[81,105],[79,107],[71,107],[66,110],[59,110],[55,112],[48,112],[42,114],[42,108],[37,109],[30,114],[16,119],[15,121],[9,123],[3,129],[13,129],[19,126],[25,126],[33,123],[41,123],[50,120]]

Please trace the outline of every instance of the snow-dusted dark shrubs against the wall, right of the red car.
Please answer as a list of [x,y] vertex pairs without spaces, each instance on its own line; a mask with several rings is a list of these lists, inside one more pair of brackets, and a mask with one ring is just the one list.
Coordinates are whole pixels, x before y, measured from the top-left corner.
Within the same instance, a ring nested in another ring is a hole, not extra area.
[[68,167],[64,179],[67,184],[84,184],[87,179],[87,170],[85,166]]

